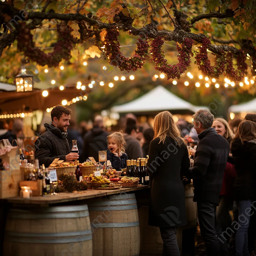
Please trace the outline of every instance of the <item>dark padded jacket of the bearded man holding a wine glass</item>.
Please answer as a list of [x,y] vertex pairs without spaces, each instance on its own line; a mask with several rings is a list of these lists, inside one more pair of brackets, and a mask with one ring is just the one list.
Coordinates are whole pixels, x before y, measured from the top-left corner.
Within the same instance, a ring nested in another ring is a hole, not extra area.
[[67,132],[61,132],[53,124],[44,124],[46,131],[36,140],[35,158],[39,159],[39,165],[48,167],[55,158],[66,161],[66,155],[70,153],[67,140]]

